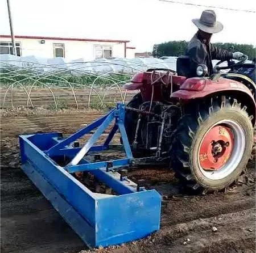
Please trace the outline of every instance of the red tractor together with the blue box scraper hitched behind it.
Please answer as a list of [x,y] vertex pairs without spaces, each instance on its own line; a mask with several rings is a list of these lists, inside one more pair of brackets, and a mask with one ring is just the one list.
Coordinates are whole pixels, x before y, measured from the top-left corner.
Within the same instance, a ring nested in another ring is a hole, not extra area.
[[[170,164],[181,182],[203,193],[228,187],[245,170],[254,143],[256,90],[255,62],[246,60],[218,62],[216,71],[230,71],[210,77],[199,65],[198,77],[188,78],[187,57],[177,58],[177,71],[138,73],[125,85],[139,90],[127,105],[117,103],[76,133],[20,135],[22,170],[88,247],[146,237],[159,230],[162,196],[143,179],[132,182],[127,168]],[[122,145],[111,142],[117,132]],[[83,136],[88,138],[80,145]],[[113,158],[114,150],[123,156]],[[112,194],[82,183],[78,174],[104,183]]]

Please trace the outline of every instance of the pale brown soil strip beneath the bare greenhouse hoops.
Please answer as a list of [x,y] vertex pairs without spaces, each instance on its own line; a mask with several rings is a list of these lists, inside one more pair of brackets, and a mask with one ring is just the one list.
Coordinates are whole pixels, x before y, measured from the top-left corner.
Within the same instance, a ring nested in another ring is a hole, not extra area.
[[[26,91],[24,90],[26,88]],[[102,104],[110,105],[117,102],[121,102],[123,99],[125,101],[130,101],[132,96],[134,96],[137,91],[129,91],[126,93],[125,90],[120,90],[117,86],[109,85],[107,87],[94,86],[92,92],[90,87],[82,87],[71,89],[71,87],[60,87],[51,86],[51,90],[46,87],[36,87],[31,89],[30,87],[23,86],[5,88],[0,87],[0,101],[2,108],[13,108],[22,106],[33,106],[33,107],[43,107],[43,108],[67,108],[67,107],[79,107],[88,108],[89,104],[89,94],[90,96],[90,107],[102,108]],[[28,100],[27,94],[30,94],[30,100]],[[122,94],[122,95],[121,95]],[[101,102],[100,102],[100,98]],[[42,99],[43,98],[43,99]],[[32,102],[32,104],[31,104]]]

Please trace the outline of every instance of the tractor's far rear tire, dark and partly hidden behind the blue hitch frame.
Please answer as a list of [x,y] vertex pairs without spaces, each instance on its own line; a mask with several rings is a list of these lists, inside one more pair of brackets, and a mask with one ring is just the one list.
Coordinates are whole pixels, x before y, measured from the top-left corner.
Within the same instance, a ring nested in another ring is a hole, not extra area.
[[[142,95],[141,92],[136,94],[133,99],[129,103],[127,103],[127,107],[139,109],[139,107],[142,104]],[[125,112],[125,130],[128,137],[129,144],[133,144],[135,132],[136,132],[136,126],[138,121],[138,113],[133,111],[126,110]],[[121,144],[122,144],[122,138],[121,138]]]

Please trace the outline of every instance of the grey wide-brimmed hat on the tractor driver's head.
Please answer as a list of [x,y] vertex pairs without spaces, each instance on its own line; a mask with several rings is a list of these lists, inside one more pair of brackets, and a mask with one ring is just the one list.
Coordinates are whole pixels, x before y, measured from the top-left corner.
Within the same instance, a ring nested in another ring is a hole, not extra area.
[[223,29],[223,25],[216,21],[216,14],[213,10],[205,10],[200,19],[192,19],[192,22],[202,31],[217,33]]

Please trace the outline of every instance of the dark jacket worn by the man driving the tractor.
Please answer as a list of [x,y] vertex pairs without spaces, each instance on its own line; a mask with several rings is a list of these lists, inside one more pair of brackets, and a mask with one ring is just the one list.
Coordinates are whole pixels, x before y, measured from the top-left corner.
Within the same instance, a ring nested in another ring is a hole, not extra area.
[[198,64],[205,64],[208,67],[208,73],[213,73],[212,60],[229,60],[232,59],[233,54],[224,49],[216,48],[211,43],[207,43],[202,39],[197,32],[189,41],[187,47],[187,54],[189,56],[191,77],[196,77],[196,68]]

